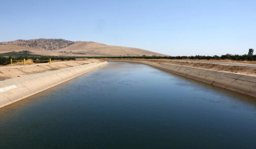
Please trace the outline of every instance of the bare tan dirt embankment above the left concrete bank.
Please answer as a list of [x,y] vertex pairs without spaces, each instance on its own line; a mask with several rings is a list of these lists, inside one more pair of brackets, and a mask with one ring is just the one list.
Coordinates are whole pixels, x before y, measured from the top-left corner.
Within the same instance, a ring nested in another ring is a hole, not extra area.
[[57,69],[63,69],[68,67],[75,67],[79,65],[85,65],[90,63],[100,63],[104,60],[82,60],[82,61],[59,61],[52,64],[31,64],[31,65],[20,65],[20,66],[2,66],[0,67],[0,81],[6,80],[13,77],[21,77],[34,73],[53,71]]

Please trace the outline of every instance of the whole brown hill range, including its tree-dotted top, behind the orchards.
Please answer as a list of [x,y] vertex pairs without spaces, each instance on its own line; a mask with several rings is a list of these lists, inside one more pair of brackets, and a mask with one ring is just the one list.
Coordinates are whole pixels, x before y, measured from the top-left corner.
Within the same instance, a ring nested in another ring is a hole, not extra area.
[[64,39],[15,40],[0,43],[0,53],[30,51],[34,55],[51,56],[167,56],[138,48],[118,47],[92,41]]

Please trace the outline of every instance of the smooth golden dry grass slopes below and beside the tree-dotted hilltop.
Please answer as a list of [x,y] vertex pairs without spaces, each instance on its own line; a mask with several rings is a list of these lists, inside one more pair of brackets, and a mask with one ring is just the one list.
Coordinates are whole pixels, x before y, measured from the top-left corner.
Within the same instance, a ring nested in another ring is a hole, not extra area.
[[[33,54],[44,56],[167,56],[138,48],[118,47],[86,41],[77,41],[75,44],[72,44],[68,47],[53,51],[22,45],[0,45],[0,53],[7,53],[12,51],[19,52],[23,50],[28,50],[33,52]],[[64,51],[66,51],[66,53],[59,53]],[[85,53],[86,55],[73,54],[70,53],[70,51],[76,53]]]

